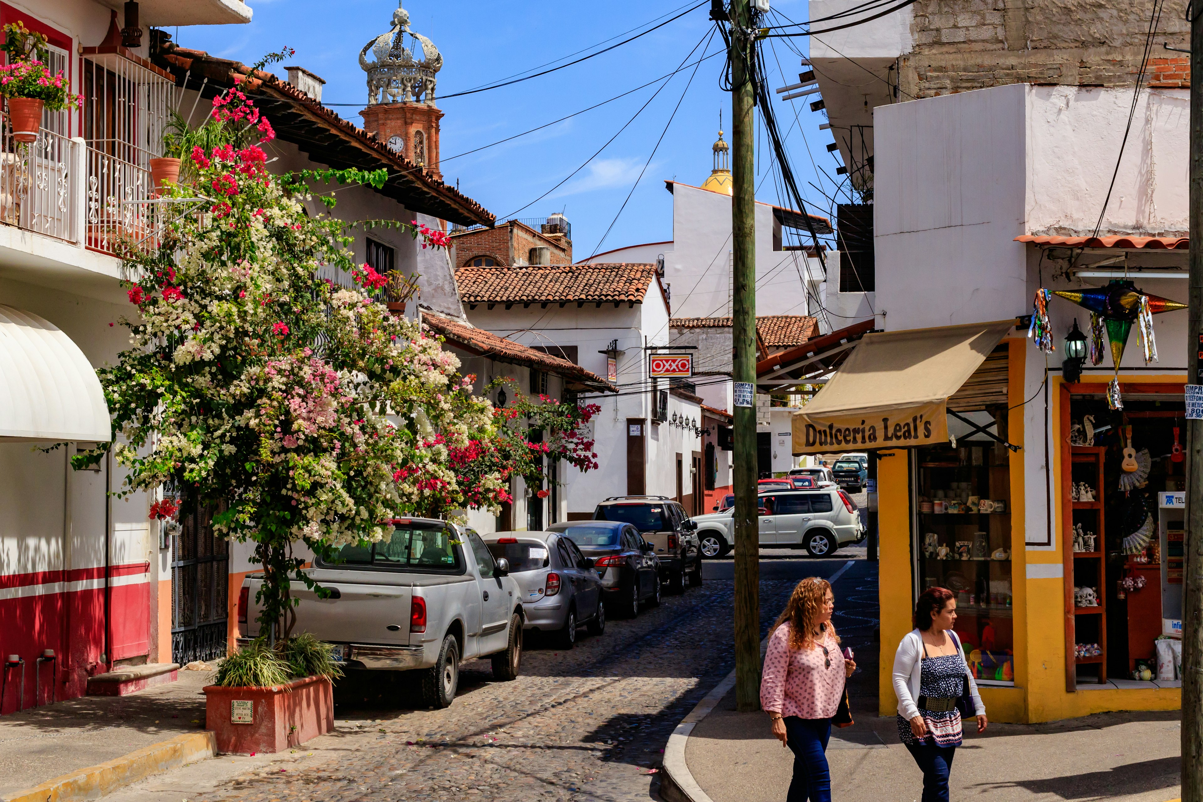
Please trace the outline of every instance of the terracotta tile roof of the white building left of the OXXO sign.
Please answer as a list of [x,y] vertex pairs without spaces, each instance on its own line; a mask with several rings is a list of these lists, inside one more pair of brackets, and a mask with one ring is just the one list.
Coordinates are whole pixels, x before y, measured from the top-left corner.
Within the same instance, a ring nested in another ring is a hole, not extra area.
[[617,263],[461,267],[455,280],[468,304],[642,303],[657,278],[654,265]]

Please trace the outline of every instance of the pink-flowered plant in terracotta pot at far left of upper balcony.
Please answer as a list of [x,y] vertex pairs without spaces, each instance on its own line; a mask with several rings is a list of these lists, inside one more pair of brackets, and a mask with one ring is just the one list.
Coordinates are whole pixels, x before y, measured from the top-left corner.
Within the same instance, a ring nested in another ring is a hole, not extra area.
[[46,36],[30,31],[17,20],[4,26],[0,51],[7,64],[0,66],[0,95],[8,101],[12,137],[17,142],[37,139],[42,125],[42,109],[60,112],[67,106],[79,107],[83,97],[67,91],[67,79],[46,66],[49,55]]

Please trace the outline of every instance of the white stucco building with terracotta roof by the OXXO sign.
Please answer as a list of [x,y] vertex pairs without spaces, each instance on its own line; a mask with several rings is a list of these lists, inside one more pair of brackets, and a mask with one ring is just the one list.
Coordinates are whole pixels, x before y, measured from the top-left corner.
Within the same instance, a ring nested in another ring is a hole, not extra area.
[[583,397],[602,406],[592,422],[599,468],[563,469],[568,519],[627,494],[701,509],[701,399],[688,382],[648,378],[648,358],[669,345],[668,293],[654,263],[468,266],[456,280],[474,326],[617,385],[616,394]]

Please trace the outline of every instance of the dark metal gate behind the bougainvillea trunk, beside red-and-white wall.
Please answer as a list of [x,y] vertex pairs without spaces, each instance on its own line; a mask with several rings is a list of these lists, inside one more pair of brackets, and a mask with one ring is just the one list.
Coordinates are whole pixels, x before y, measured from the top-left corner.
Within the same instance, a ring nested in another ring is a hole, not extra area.
[[230,545],[213,533],[217,511],[182,513],[171,539],[171,659],[179,665],[226,655]]

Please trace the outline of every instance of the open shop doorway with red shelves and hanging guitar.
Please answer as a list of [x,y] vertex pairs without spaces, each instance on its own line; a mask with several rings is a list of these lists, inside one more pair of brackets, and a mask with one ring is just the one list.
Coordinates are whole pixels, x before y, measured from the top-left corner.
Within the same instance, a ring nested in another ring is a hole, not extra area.
[[1127,398],[1122,410],[1069,397],[1062,536],[1075,683],[1180,678],[1184,416],[1178,393]]

